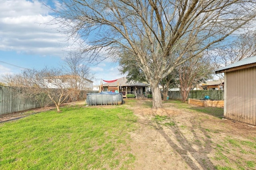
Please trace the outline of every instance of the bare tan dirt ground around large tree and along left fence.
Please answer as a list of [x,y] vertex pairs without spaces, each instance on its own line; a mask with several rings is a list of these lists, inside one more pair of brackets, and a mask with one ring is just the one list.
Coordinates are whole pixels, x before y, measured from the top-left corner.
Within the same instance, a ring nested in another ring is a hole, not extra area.
[[[136,157],[132,169],[256,169],[255,126],[181,109],[172,102],[164,103],[164,109],[152,110],[144,107],[145,102],[151,100],[127,105],[138,117],[138,129],[130,134],[130,152]],[[0,122],[54,108],[1,115]]]

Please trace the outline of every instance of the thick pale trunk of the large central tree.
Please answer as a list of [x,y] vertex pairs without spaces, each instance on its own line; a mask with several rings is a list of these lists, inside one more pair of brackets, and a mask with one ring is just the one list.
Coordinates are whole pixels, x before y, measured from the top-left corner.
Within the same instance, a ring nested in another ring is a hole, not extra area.
[[152,109],[158,109],[163,108],[162,106],[162,98],[161,98],[161,92],[157,84],[150,84],[151,90],[152,90],[152,96],[153,96],[153,106]]

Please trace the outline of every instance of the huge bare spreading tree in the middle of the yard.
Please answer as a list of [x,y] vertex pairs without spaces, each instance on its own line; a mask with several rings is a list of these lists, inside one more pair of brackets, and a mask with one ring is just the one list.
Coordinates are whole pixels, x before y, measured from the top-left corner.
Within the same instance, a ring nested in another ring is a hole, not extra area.
[[251,25],[256,1],[62,0],[57,10],[56,21],[68,37],[78,40],[77,51],[91,52],[91,61],[128,51],[151,86],[152,108],[162,108],[159,82],[177,66]]

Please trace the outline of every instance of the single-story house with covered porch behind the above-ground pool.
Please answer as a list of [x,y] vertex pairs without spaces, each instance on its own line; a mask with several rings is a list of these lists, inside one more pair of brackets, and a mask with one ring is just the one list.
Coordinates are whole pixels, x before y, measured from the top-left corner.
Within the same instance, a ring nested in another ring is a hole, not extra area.
[[[105,80],[103,80],[105,81]],[[126,98],[127,94],[135,94],[137,97],[147,96],[148,84],[140,82],[127,82],[126,77],[119,78],[117,80],[107,81],[107,83],[101,85],[101,91],[110,92],[118,91],[122,93],[123,97]]]

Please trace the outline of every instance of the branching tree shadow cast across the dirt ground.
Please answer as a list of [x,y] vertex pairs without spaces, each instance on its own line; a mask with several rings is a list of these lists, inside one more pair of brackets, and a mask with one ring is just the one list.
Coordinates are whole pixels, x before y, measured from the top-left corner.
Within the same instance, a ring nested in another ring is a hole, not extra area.
[[[152,125],[166,139],[170,147],[187,163],[192,170],[214,170],[208,153],[212,150],[213,142],[209,138],[208,132],[201,127],[196,120],[190,120],[192,127],[188,127],[192,133],[192,141],[188,140],[180,127],[168,127],[168,131],[163,129],[163,125]],[[170,132],[172,135],[170,137]],[[190,135],[191,138],[191,135]]]

